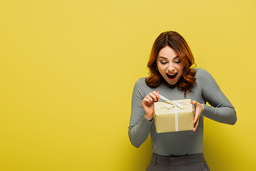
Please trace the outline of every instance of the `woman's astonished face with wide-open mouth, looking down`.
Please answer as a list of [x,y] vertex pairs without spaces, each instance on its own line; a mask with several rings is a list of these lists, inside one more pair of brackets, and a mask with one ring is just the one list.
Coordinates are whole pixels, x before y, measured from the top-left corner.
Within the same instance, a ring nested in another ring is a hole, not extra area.
[[166,46],[157,55],[157,68],[169,84],[176,84],[183,74],[184,65],[177,53]]

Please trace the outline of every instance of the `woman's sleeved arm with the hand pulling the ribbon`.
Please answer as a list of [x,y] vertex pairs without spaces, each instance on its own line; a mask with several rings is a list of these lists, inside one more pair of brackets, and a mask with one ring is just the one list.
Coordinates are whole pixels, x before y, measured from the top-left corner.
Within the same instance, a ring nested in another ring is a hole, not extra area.
[[[153,93],[150,93],[151,95],[147,95],[144,98],[145,95],[142,92],[141,81],[142,79],[139,79],[134,86],[132,96],[132,112],[128,132],[130,141],[135,147],[139,147],[147,139],[148,134],[150,133],[151,124],[153,123],[152,111],[154,111],[154,102],[158,100],[156,97],[151,98],[154,96]],[[141,103],[143,104],[143,107]],[[148,111],[150,111],[152,114],[148,115]]]

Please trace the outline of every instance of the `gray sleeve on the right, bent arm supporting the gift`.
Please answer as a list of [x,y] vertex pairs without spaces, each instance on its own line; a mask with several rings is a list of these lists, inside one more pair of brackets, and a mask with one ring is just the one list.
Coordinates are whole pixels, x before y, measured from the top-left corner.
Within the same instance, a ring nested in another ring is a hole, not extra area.
[[204,104],[202,116],[217,122],[233,125],[237,122],[233,105],[223,94],[215,79],[204,69],[197,71],[203,98],[211,105]]

